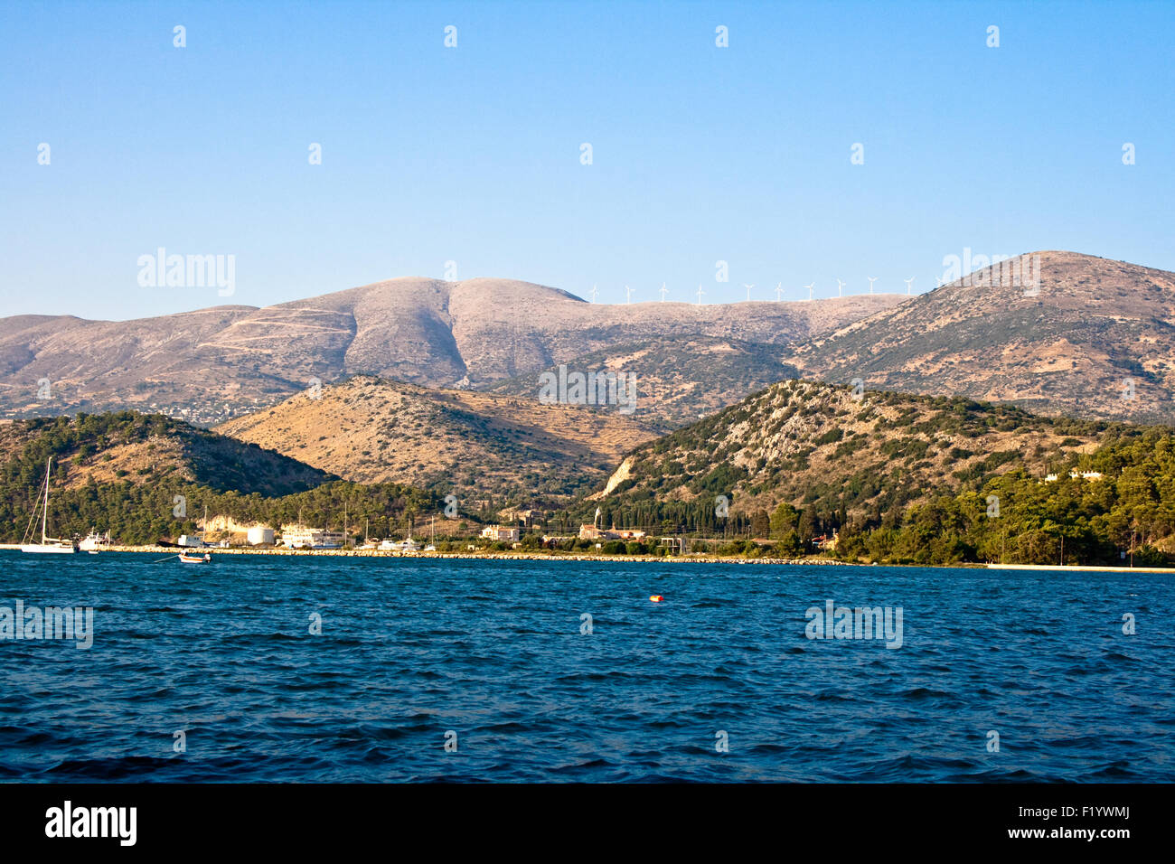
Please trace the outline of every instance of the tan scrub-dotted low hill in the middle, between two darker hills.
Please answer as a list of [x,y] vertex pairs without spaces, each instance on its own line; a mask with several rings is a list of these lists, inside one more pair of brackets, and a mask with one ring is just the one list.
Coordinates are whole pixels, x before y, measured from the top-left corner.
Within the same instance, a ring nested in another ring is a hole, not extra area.
[[615,409],[357,376],[223,423],[216,431],[360,483],[466,500],[562,500],[599,483],[654,437]]

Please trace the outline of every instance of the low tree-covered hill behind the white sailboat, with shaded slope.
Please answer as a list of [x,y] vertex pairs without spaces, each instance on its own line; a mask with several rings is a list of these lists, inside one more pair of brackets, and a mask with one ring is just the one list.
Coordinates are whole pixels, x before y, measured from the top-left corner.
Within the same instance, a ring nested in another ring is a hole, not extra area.
[[[372,536],[407,530],[443,502],[418,489],[340,481],[256,444],[159,415],[122,411],[0,426],[0,542],[19,542],[53,456],[49,533],[109,530],[123,543],[195,533],[210,517],[307,524]],[[177,498],[183,507],[176,514]]]

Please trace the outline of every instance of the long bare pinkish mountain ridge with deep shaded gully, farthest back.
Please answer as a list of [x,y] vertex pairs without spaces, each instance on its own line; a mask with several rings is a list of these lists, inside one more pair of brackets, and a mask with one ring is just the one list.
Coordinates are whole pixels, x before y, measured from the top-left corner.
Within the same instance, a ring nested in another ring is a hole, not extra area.
[[395,279],[266,308],[136,321],[0,319],[0,416],[133,408],[214,423],[317,379],[477,387],[656,337],[787,344],[902,302],[588,303],[504,279]]

